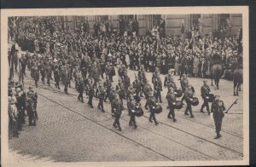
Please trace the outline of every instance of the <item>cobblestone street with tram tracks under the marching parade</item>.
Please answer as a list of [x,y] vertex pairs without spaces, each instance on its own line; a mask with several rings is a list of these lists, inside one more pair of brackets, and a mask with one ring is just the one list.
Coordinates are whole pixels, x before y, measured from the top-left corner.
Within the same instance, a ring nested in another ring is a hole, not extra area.
[[[117,73],[117,72],[116,72]],[[128,72],[131,82],[134,71]],[[147,78],[151,78],[147,73]],[[96,109],[98,100],[94,98],[95,108],[90,108],[86,102],[77,99],[78,92],[68,89],[69,95],[61,89],[55,89],[54,81],[51,87],[39,82],[34,86],[30,72],[26,71],[25,89],[32,85],[38,92],[38,122],[37,126],[23,127],[19,138],[9,140],[9,162],[101,162],[101,161],[185,161],[185,160],[241,160],[243,158],[243,105],[242,91],[240,96],[233,96],[233,83],[220,81],[220,88],[212,93],[220,95],[226,108],[236,101],[223,121],[223,137],[215,140],[213,119],[206,113],[201,113],[202,104],[200,88],[202,78],[189,78],[189,83],[195,87],[195,96],[200,104],[193,107],[195,118],[184,115],[186,105],[176,110],[177,123],[167,118],[166,89],[162,92],[164,111],[156,115],[159,125],[148,122],[149,112],[144,110],[144,116],[137,118],[137,130],[129,126],[128,111],[123,112],[120,119],[122,131],[113,128],[109,102],[104,102],[106,112]],[[179,81],[175,77],[177,86]],[[164,76],[161,76],[162,82]],[[15,73],[17,80],[17,73]],[[117,76],[114,83],[117,83]],[[210,84],[210,79],[208,80]],[[84,95],[85,96],[85,95]],[[142,106],[145,99],[142,99]],[[124,104],[126,108],[126,101]]]

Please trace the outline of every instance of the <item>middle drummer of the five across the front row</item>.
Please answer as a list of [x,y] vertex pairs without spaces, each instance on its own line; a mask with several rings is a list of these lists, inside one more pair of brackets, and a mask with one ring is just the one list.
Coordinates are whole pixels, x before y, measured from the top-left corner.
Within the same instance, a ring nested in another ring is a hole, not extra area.
[[168,113],[167,118],[173,118],[173,122],[176,122],[177,119],[175,118],[174,106],[177,101],[176,101],[176,95],[174,94],[174,89],[172,87],[169,89],[166,95],[166,99],[168,101],[168,106],[170,109],[170,112]]

